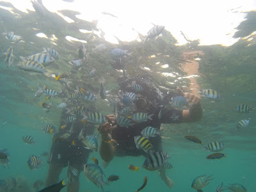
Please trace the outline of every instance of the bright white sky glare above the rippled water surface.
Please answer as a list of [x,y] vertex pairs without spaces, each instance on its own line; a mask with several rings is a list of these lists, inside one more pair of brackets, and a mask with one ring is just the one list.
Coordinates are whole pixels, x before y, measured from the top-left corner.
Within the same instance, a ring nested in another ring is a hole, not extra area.
[[[8,1],[8,0],[6,0]],[[9,0],[15,8],[26,12],[34,10],[29,0]],[[153,27],[151,23],[165,26],[178,40],[186,44],[182,31],[189,40],[200,39],[200,45],[234,44],[238,39],[232,38],[236,27],[244,20],[245,14],[256,10],[255,0],[180,0],[180,1],[84,1],[75,0],[68,3],[61,0],[43,0],[44,6],[51,12],[58,10],[75,10],[80,12],[79,19],[98,20],[98,28],[106,35],[105,40],[117,44],[114,36],[123,41],[135,40]],[[116,17],[104,15],[108,12]],[[70,21],[69,21],[70,22]]]

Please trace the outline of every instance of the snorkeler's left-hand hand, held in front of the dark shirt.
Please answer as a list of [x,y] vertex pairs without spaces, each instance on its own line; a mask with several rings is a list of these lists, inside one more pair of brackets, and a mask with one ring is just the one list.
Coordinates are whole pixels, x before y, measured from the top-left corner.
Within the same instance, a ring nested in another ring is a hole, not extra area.
[[[108,115],[107,118],[108,122],[103,125],[99,125],[99,127],[97,128],[102,136],[102,140],[111,140],[111,133],[113,129],[116,129],[117,127],[117,125],[112,125],[113,123],[115,123],[115,115]],[[111,124],[109,122],[111,122]]]

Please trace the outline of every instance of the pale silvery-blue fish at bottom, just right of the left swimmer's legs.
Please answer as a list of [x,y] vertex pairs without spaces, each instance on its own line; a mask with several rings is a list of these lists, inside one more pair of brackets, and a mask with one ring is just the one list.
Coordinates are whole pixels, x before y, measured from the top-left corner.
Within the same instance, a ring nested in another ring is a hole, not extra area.
[[98,188],[101,187],[104,191],[104,184],[108,184],[103,181],[105,174],[103,173],[102,168],[97,164],[85,164],[84,165],[84,174],[87,179],[91,180]]

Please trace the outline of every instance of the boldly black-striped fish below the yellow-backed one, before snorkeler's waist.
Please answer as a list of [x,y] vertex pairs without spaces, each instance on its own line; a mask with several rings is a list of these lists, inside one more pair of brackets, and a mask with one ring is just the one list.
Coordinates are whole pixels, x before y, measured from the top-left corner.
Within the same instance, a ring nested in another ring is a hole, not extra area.
[[163,152],[154,152],[145,159],[142,167],[148,171],[159,170],[159,168],[163,168],[163,166],[167,163],[167,158],[167,153],[163,154]]

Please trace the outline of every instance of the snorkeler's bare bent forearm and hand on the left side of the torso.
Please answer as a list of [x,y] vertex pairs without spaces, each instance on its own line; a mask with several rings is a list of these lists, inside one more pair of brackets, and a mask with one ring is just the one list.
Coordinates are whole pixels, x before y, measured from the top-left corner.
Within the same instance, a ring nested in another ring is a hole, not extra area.
[[[115,115],[108,115],[109,120],[111,120],[112,123],[115,121]],[[113,129],[116,129],[116,125],[112,126],[112,124],[109,124],[109,122],[106,122],[103,125],[99,125],[98,131],[101,134],[101,141],[100,141],[100,157],[106,161],[106,163],[109,163],[115,153],[115,145],[113,143],[116,143],[115,140],[111,139],[111,133]],[[111,142],[109,142],[111,141]]]

